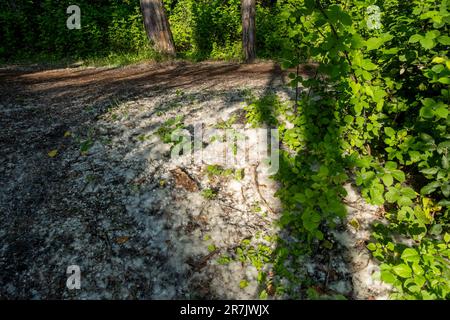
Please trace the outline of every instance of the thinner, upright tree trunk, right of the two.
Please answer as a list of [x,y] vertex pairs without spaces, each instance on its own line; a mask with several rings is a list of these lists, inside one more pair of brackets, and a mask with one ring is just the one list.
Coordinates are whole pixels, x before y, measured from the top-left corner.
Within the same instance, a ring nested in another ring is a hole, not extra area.
[[256,58],[256,1],[241,0],[242,11],[242,47],[246,62],[252,62]]

